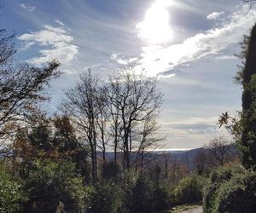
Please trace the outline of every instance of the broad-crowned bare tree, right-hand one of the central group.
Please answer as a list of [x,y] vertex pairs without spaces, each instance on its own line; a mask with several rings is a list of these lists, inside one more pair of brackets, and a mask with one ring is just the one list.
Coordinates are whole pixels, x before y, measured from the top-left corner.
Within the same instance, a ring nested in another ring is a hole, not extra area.
[[154,121],[160,110],[162,95],[156,87],[155,78],[148,78],[143,72],[136,74],[130,66],[110,79],[108,89],[112,94],[110,101],[115,113],[112,116],[115,118],[115,130],[122,141],[123,168],[129,169],[131,154],[145,150],[149,143],[153,144],[154,140],[149,140],[149,135],[157,130]]

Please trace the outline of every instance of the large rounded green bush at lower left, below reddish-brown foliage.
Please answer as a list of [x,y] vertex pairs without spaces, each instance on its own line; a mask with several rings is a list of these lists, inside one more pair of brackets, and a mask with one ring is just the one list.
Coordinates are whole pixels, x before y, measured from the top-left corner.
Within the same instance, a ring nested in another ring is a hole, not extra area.
[[30,192],[26,212],[55,212],[60,202],[67,212],[85,212],[89,193],[82,178],[74,172],[73,163],[36,160],[26,177]]

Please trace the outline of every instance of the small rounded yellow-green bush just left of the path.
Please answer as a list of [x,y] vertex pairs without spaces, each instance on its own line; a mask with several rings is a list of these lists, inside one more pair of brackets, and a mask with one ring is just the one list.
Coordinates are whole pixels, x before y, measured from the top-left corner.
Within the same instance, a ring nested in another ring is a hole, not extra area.
[[204,181],[201,176],[184,177],[175,189],[177,204],[197,204],[201,202]]

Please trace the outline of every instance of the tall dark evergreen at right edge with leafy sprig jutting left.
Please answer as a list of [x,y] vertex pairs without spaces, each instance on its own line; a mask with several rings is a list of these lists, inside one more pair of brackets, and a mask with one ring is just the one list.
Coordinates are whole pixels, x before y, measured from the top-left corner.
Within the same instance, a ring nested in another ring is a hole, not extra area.
[[242,65],[235,77],[236,83],[242,85],[242,111],[237,118],[231,118],[226,112],[218,120],[230,130],[242,153],[242,162],[249,168],[256,164],[256,25],[250,36],[244,37],[241,43],[241,54],[238,55]]

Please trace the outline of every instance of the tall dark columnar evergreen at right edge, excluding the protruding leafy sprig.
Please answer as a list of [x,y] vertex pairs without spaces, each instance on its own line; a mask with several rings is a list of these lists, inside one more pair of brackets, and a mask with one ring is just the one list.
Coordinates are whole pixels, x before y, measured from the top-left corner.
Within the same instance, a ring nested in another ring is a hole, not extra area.
[[245,66],[242,73],[243,93],[241,115],[241,140],[238,141],[243,153],[243,164],[249,168],[256,164],[256,25],[251,30],[247,39],[247,51],[245,52]]

